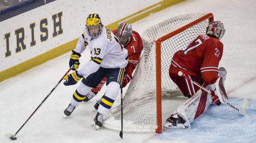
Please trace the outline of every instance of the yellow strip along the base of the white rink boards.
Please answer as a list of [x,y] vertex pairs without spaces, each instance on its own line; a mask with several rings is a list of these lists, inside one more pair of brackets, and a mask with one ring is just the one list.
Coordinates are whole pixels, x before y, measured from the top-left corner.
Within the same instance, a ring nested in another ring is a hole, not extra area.
[[[186,1],[186,0],[163,0],[157,4],[154,4],[152,6],[144,8],[138,12],[135,12],[134,14],[131,14],[125,18],[122,18],[118,21],[110,23],[109,25],[106,26],[106,28],[108,28],[110,30],[115,30],[118,28],[119,24],[122,21],[128,22],[128,23],[133,23],[142,18],[149,16],[151,13],[158,12],[164,8],[170,7],[172,5],[175,5],[177,3],[184,2],[184,1]],[[79,40],[79,38],[76,38],[75,40],[72,40],[70,42],[67,42],[67,43],[61,45],[61,46],[51,49],[51,50],[47,51],[46,53],[43,53],[37,57],[29,59],[20,64],[17,64],[16,66],[14,66],[12,68],[1,71],[0,72],[0,82],[4,81],[6,79],[9,79],[10,77],[13,77],[22,72],[25,72],[33,67],[39,66],[40,64],[42,64],[48,60],[54,59],[54,58],[61,56],[65,53],[68,53],[69,51],[71,51],[72,49],[75,48],[78,40]]]

